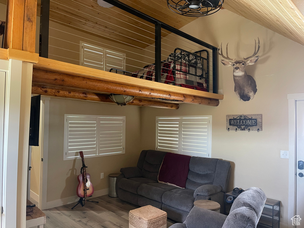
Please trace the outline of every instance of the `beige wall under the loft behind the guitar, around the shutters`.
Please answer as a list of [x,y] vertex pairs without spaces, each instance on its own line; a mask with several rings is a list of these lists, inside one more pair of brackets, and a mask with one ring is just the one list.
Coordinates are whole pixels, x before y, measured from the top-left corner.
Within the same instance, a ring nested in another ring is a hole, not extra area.
[[[95,191],[108,188],[108,175],[136,166],[140,154],[140,107],[50,99],[47,202],[76,194],[81,159],[63,160],[64,114],[126,116],[126,153],[85,158]],[[104,173],[104,179],[100,179]]]

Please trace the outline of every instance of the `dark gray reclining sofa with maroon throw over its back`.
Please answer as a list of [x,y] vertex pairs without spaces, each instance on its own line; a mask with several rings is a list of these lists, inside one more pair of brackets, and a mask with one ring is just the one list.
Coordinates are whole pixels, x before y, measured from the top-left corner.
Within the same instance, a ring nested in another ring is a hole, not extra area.
[[158,183],[157,177],[167,152],[143,150],[136,167],[122,168],[116,181],[116,193],[124,201],[138,206],[152,205],[167,212],[168,218],[184,222],[193,202],[210,199],[224,209],[230,162],[216,158],[191,157],[186,188]]

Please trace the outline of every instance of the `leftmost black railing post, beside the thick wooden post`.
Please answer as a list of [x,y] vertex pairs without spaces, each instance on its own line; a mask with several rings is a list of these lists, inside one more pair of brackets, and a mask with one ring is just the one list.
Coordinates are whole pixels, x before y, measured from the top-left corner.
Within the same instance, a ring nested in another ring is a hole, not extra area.
[[50,0],[41,0],[39,56],[44,58],[48,58],[49,55],[49,20],[50,20]]

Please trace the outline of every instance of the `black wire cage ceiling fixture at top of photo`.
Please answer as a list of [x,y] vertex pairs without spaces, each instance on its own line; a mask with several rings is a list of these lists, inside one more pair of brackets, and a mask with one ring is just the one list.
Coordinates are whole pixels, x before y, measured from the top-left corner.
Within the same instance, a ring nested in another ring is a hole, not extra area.
[[223,3],[224,0],[167,0],[169,9],[188,17],[211,15],[221,9]]

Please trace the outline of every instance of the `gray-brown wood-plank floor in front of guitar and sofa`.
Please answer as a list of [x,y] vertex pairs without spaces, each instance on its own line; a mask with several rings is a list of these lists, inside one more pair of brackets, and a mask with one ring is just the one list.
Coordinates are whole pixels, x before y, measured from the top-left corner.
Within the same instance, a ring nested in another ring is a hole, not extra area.
[[[128,228],[129,211],[138,208],[108,195],[89,199],[99,203],[87,202],[84,207],[78,205],[73,210],[76,203],[43,210],[47,216],[44,228]],[[173,223],[168,219],[167,227]]]

